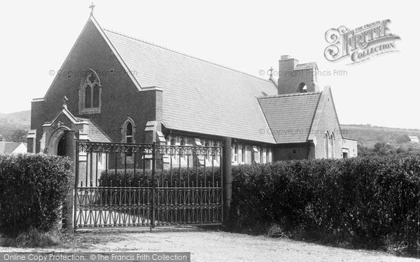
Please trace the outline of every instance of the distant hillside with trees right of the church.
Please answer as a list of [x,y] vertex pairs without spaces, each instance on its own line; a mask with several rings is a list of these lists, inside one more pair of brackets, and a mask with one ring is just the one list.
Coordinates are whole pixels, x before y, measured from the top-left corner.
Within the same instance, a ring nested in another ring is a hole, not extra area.
[[358,145],[373,147],[375,143],[397,144],[402,136],[417,136],[420,138],[420,129],[396,129],[384,126],[370,126],[364,124],[342,124],[342,135],[358,140]]

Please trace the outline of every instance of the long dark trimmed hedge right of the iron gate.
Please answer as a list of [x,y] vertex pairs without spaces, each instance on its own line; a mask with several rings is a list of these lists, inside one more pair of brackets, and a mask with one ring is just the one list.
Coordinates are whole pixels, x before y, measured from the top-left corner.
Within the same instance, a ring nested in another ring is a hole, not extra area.
[[232,168],[232,231],[416,249],[420,157],[317,159]]

